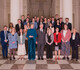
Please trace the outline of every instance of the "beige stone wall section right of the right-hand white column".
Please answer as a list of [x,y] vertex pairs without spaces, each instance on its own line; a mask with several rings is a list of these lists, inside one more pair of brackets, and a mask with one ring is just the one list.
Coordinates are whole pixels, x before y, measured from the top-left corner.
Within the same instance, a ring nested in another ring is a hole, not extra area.
[[80,33],[80,0],[73,0],[73,27]]

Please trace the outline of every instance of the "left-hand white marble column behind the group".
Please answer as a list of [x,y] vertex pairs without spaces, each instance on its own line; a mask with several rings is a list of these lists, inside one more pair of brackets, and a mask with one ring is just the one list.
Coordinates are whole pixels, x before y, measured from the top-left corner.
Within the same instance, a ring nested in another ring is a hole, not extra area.
[[10,21],[17,24],[17,20],[23,15],[23,0],[11,0],[10,2]]

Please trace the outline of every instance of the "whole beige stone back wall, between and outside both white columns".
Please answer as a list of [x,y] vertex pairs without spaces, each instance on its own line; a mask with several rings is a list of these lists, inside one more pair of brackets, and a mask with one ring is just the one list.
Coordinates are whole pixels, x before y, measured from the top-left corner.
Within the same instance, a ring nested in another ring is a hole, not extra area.
[[[55,14],[60,15],[60,0],[23,0],[23,3],[23,14],[25,16],[27,16],[27,13],[31,14],[31,16],[44,14],[46,17],[54,16]],[[80,33],[79,18],[80,0],[73,0],[73,27]],[[8,25],[9,21],[10,0],[0,0],[0,30],[2,30],[5,24]]]

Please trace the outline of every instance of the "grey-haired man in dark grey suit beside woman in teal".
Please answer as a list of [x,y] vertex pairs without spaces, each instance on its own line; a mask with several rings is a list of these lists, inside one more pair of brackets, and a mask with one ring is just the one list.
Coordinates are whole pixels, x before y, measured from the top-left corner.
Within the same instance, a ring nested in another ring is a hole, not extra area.
[[45,30],[43,24],[40,24],[40,29],[37,30],[37,47],[38,47],[38,60],[43,60],[44,45],[45,45]]

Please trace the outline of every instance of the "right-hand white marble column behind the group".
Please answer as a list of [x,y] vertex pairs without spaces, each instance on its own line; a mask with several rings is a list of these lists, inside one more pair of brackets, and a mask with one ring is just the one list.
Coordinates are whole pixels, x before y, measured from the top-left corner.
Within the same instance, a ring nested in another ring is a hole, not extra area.
[[[62,12],[62,13],[61,13]],[[72,0],[60,0],[60,16],[65,20],[66,17],[72,23]]]

